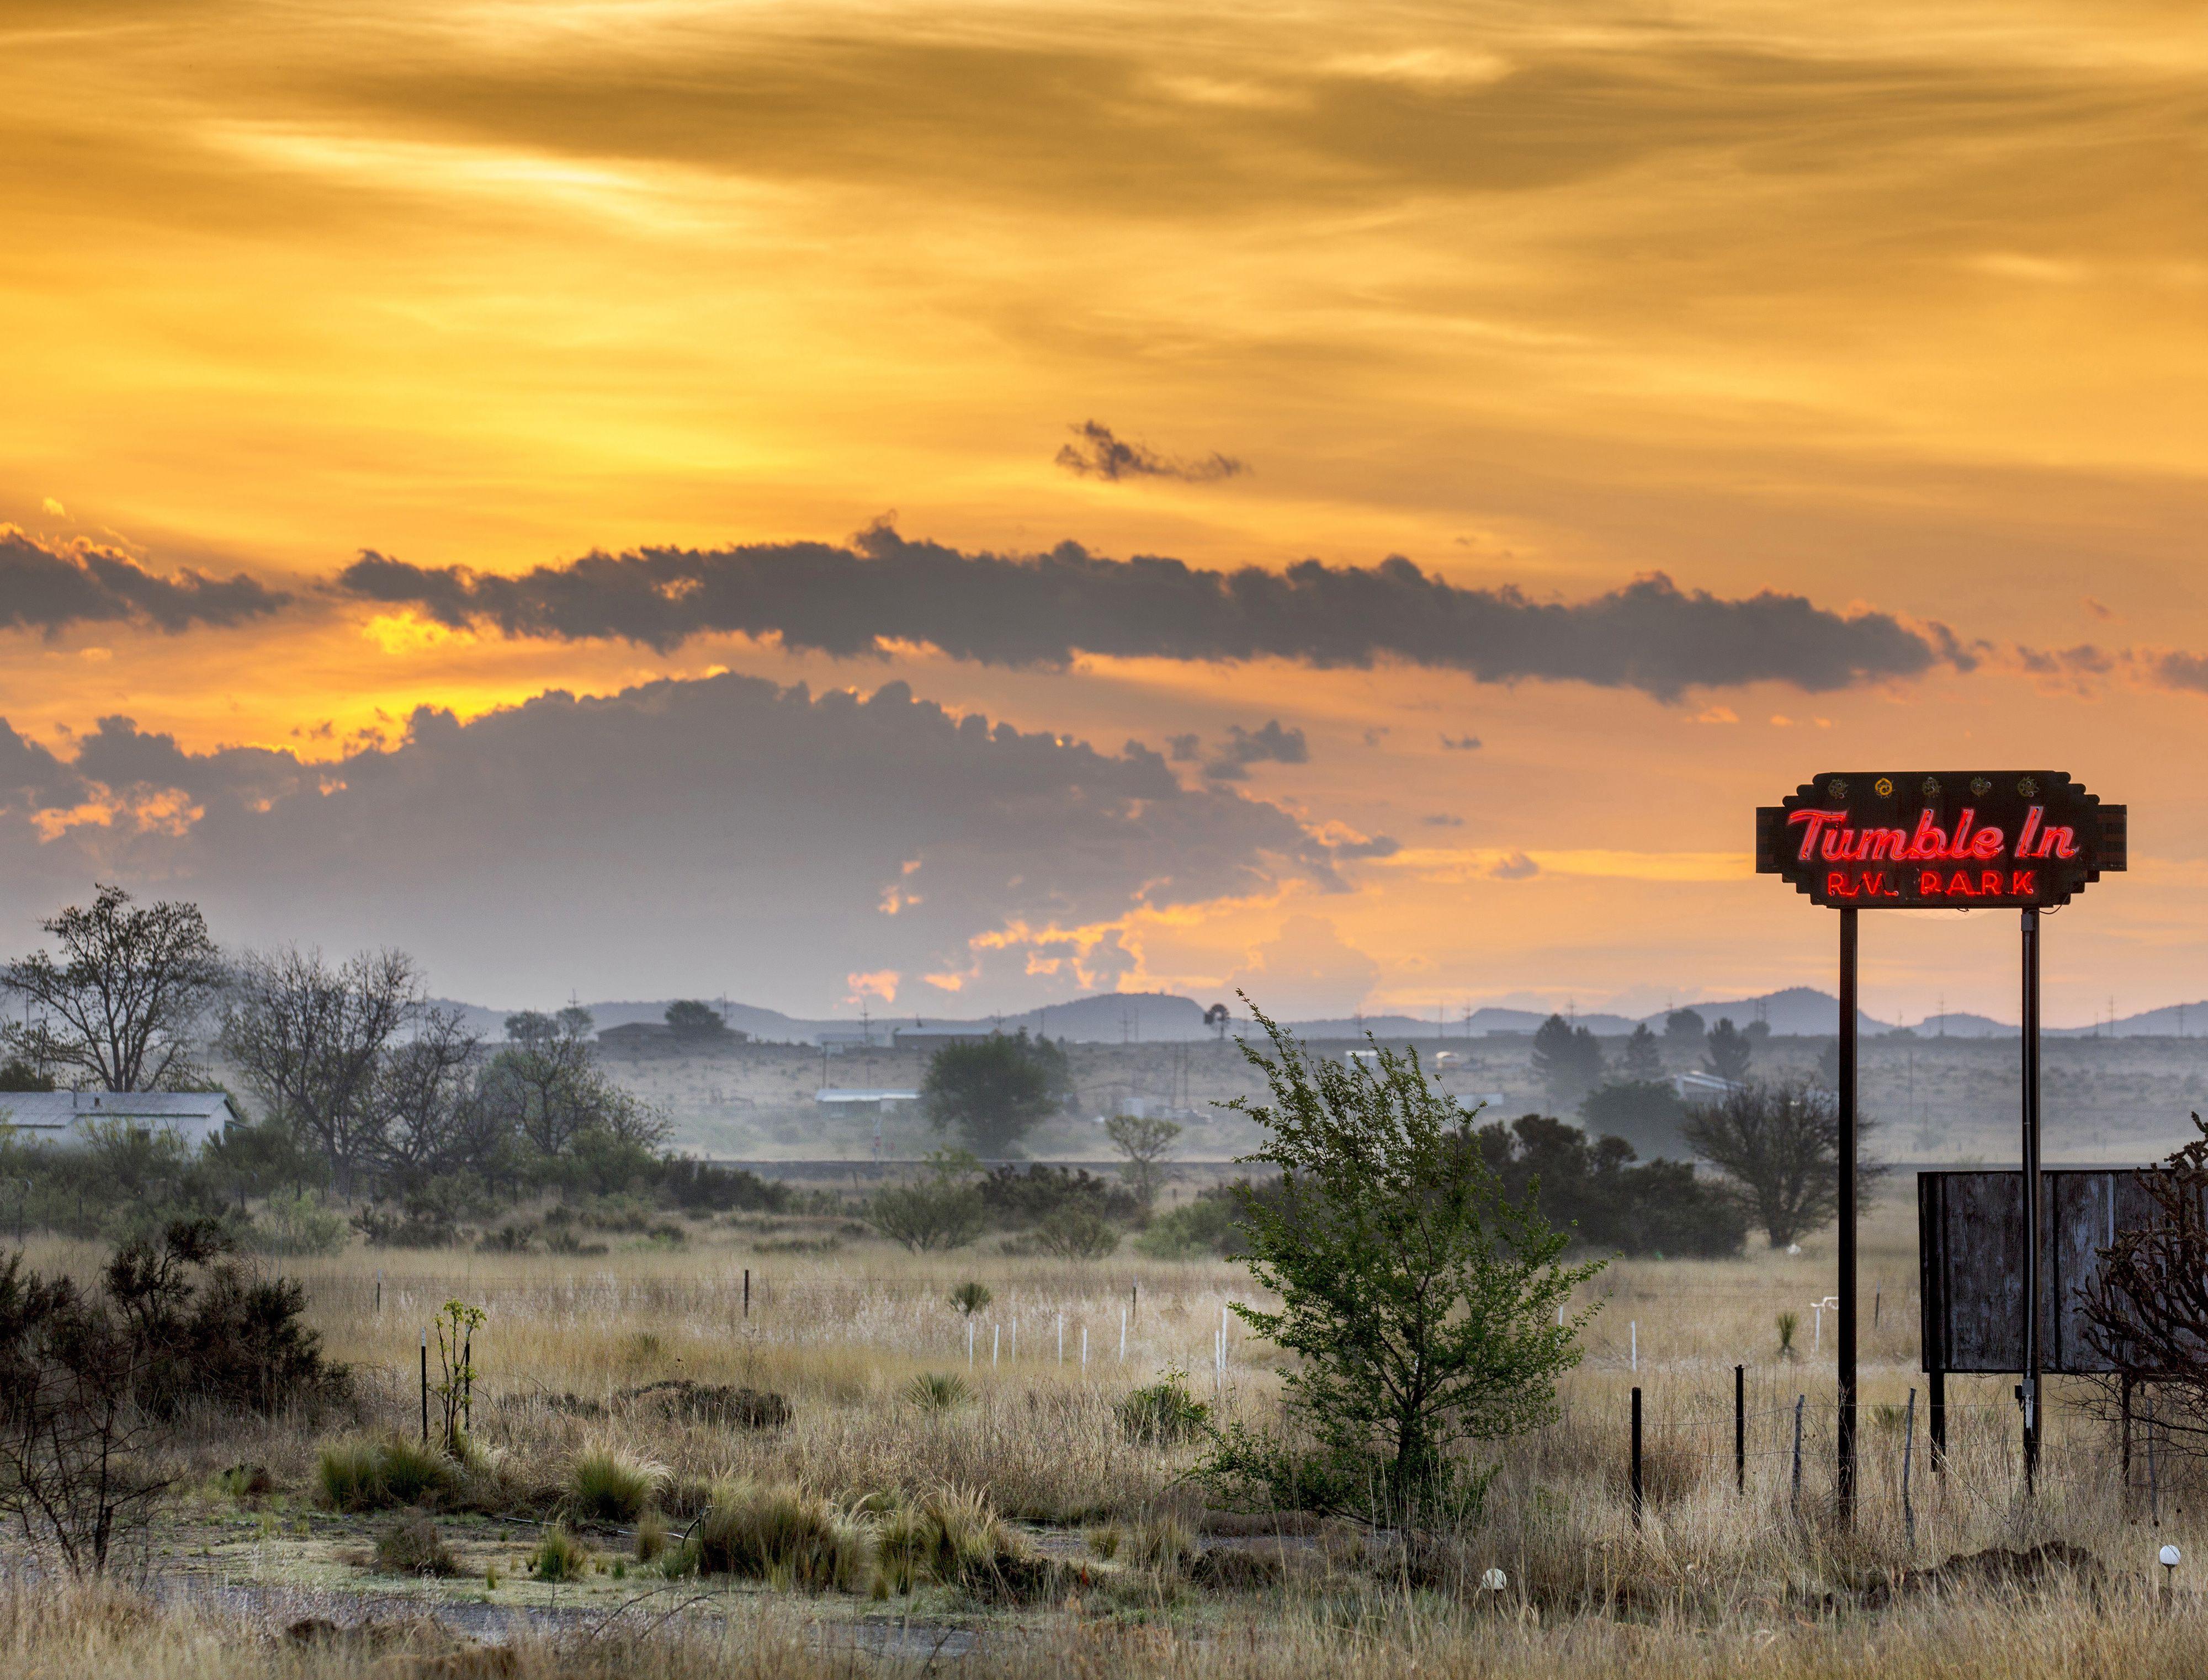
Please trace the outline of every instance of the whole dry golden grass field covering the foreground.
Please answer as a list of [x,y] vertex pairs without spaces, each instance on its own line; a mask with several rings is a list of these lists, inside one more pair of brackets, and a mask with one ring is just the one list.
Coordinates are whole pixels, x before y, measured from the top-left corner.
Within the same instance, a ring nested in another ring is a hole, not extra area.
[[[93,1258],[33,1243],[49,1267]],[[1188,1479],[1195,1446],[1122,1428],[1117,1402],[1172,1369],[1223,1415],[1272,1408],[1274,1362],[1239,1322],[1223,1373],[1214,1364],[1221,1309],[1250,1287],[1228,1263],[1055,1263],[989,1245],[910,1256],[837,1221],[737,1216],[696,1225],[678,1250],[355,1247],[283,1269],[305,1283],[329,1351],[360,1373],[360,1413],[194,1431],[174,1466],[179,1495],[117,1585],[79,1594],[18,1576],[0,1605],[0,1671],[808,1676],[956,1662],[991,1676],[1793,1676],[1875,1662],[1883,1673],[2151,1676],[2197,1671],[2208,1631],[2188,1589],[2195,1565],[2168,1598],[2153,1567],[2164,1541],[2208,1561],[2188,1472],[2157,1461],[2151,1517],[2144,1457],[2126,1490],[2113,1428],[2082,1391],[2051,1415],[2031,1503],[2018,1497],[2005,1380],[1950,1384],[1945,1472],[1928,1464],[1919,1395],[1903,1510],[1906,1397],[1921,1375],[1914,1221],[1899,1197],[1864,1241],[1853,1532],[1830,1521],[1830,1316],[1813,1349],[1830,1234],[1795,1256],[1614,1263],[1588,1291],[1601,1311],[1563,1384],[1563,1417],[1493,1448],[1482,1521],[1426,1548],[1347,1523],[1223,1517]],[[965,1280],[991,1291],[972,1320],[947,1300]],[[318,1455],[338,1439],[420,1433],[420,1336],[448,1298],[488,1314],[475,1340],[473,1492],[466,1512],[439,1517],[457,1574],[380,1574],[371,1548],[393,1519],[322,1508]],[[1780,1351],[1782,1311],[1800,1318],[1793,1358]],[[1749,1384],[1744,1492],[1733,1486],[1733,1364]],[[912,1384],[927,1373],[960,1378],[967,1397],[919,1406]],[[684,1422],[623,1397],[678,1378],[773,1391],[788,1422]],[[1634,1384],[1647,1408],[1638,1525],[1625,1492]],[[941,1585],[667,1581],[636,1556],[638,1525],[609,1521],[576,1523],[594,1552],[578,1574],[534,1578],[543,1523],[594,1448],[665,1466],[676,1530],[689,1517],[682,1490],[711,1484],[804,1488],[859,1528],[885,1499],[949,1486],[978,1490],[1018,1525],[1022,1552],[1071,1572],[1053,1592],[1002,1601]],[[254,1468],[265,1484],[236,1472]],[[2020,1578],[1928,1574],[2045,1541],[2089,1559],[2067,1554]],[[1208,1552],[1259,1561],[1236,1572],[1206,1565]],[[1479,1585],[1488,1570],[1504,1572],[1501,1589]],[[280,1629],[298,1620],[327,1625],[327,1638],[287,1640]]]

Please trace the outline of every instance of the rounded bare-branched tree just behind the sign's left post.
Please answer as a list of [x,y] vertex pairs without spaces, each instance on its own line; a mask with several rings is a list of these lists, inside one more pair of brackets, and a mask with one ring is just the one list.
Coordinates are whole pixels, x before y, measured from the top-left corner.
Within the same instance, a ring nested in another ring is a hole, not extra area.
[[[1857,1124],[1868,1141],[1877,1121]],[[1839,1104],[1806,1080],[1749,1082],[1687,1110],[1680,1135],[1731,1179],[1764,1227],[1771,1247],[1819,1230],[1839,1208]],[[1877,1161],[1857,1166],[1864,1199],[1886,1177]]]

